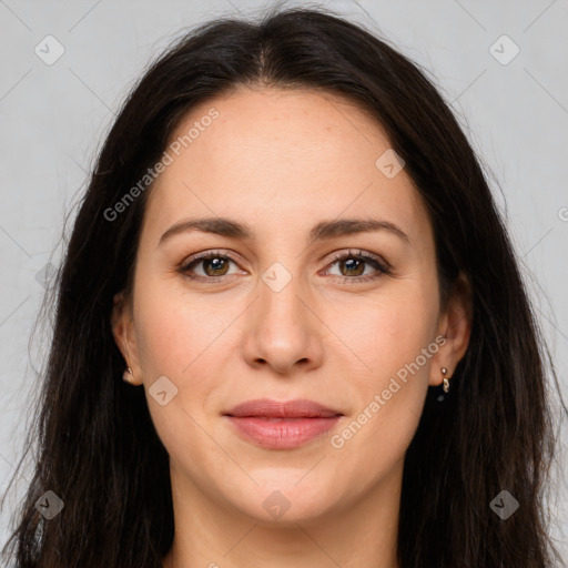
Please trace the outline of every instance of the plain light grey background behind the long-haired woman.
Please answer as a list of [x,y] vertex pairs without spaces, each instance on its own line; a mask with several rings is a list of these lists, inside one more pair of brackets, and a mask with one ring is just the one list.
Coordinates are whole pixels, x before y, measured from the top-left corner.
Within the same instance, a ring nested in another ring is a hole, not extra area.
[[[184,26],[226,13],[250,14],[264,4],[0,0],[1,491],[21,452],[34,368],[48,347],[49,331],[29,346],[44,291],[38,272],[60,260],[63,215],[84,190],[113,113],[149,59]],[[430,70],[460,115],[495,174],[491,186],[507,212],[568,398],[567,0],[326,4],[371,26]],[[34,52],[38,44],[45,50],[48,34],[65,50],[52,65]],[[520,49],[507,64],[503,58],[514,53],[514,45],[508,40],[495,44],[503,34]],[[566,422],[558,426],[562,447]],[[566,453],[560,462],[566,471]],[[554,535],[568,557],[566,473],[561,477],[550,510],[557,518]],[[17,486],[19,495],[24,486],[26,479]],[[1,545],[14,503],[12,494],[0,519]]]

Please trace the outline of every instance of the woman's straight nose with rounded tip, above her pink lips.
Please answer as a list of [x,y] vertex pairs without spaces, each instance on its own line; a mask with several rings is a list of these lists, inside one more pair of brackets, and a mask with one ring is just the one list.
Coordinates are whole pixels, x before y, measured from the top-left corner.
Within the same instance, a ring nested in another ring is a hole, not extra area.
[[316,315],[315,301],[305,293],[300,278],[292,277],[282,290],[276,290],[265,282],[258,283],[260,296],[251,306],[246,322],[247,364],[268,367],[278,375],[320,366],[325,325]]

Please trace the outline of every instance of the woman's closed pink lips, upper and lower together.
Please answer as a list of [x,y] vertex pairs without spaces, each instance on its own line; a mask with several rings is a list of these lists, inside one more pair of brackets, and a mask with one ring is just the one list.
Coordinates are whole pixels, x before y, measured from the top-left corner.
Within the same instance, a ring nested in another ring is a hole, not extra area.
[[343,414],[313,400],[247,400],[224,413],[236,434],[273,449],[307,444],[333,428]]

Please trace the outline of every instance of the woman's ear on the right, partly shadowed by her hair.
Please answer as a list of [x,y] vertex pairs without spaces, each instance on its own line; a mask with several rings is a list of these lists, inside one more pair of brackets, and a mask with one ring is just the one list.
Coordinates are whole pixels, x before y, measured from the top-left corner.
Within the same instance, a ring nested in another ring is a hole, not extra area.
[[442,368],[453,376],[457,364],[464,357],[471,335],[471,285],[464,273],[454,282],[447,306],[440,315],[437,336],[445,343],[433,357],[428,384],[438,386],[443,382]]

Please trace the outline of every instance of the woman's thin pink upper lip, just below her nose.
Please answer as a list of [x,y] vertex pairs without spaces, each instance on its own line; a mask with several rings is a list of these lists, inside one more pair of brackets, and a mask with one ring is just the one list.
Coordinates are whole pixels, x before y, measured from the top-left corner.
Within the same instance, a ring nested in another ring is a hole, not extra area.
[[333,416],[343,416],[338,410],[306,398],[287,402],[257,398],[239,404],[224,414],[225,416],[264,416],[267,418],[331,418]]

